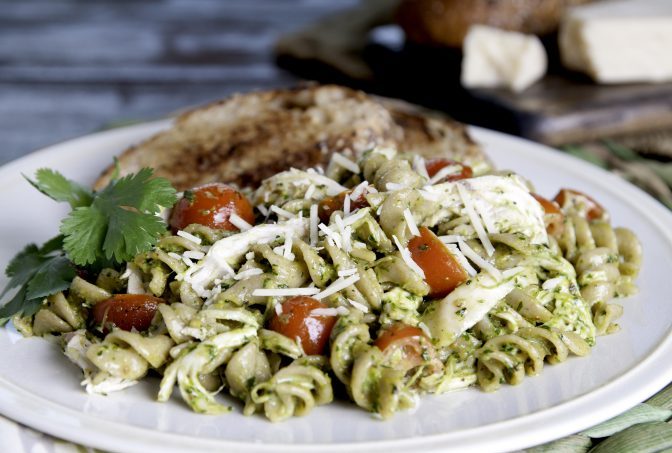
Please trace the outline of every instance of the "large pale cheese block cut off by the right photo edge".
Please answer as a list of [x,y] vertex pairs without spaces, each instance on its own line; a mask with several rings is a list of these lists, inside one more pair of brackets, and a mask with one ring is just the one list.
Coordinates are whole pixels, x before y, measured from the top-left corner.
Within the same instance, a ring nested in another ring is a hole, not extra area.
[[616,0],[569,10],[563,64],[600,83],[672,80],[672,0]]

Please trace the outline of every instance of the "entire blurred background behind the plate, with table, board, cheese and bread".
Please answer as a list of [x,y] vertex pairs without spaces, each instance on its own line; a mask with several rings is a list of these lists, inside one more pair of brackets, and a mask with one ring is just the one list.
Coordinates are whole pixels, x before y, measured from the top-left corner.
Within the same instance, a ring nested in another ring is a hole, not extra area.
[[0,164],[235,92],[316,80],[560,147],[672,205],[671,0],[0,8]]

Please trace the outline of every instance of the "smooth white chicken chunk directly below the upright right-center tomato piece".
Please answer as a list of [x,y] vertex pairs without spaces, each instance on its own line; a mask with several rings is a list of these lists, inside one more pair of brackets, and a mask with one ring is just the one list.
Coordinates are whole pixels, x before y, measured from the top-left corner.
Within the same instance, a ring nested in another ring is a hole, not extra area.
[[506,297],[515,286],[515,276],[496,280],[481,272],[430,306],[422,317],[439,346],[448,346]]

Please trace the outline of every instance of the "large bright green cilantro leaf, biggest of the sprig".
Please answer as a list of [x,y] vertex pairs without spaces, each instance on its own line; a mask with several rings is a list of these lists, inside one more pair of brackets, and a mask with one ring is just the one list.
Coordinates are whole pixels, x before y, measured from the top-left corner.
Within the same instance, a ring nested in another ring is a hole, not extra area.
[[175,189],[143,168],[94,194],[90,206],[73,210],[61,223],[63,248],[77,265],[107,258],[129,261],[149,250],[166,230],[155,214],[175,204]]

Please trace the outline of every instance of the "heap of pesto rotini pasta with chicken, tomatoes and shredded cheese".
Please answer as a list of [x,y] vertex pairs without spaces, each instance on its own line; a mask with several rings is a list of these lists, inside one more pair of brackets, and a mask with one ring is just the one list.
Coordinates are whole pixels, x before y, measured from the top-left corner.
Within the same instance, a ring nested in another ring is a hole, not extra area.
[[161,402],[177,387],[224,414],[224,392],[274,422],[330,403],[334,385],[381,418],[425,393],[494,391],[617,330],[611,301],[636,291],[642,250],[586,196],[546,212],[511,172],[471,178],[394,149],[336,159],[267,179],[248,192],[254,214],[227,205],[226,228],[175,228],[75,277],[15,325],[60,336],[89,392],[155,376]]

